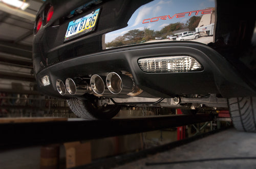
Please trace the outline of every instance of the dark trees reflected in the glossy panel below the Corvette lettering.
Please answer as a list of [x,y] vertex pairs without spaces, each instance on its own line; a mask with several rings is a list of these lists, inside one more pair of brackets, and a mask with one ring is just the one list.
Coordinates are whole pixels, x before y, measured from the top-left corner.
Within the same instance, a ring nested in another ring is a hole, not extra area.
[[153,40],[155,37],[166,37],[167,35],[173,35],[174,31],[179,31],[185,28],[188,28],[189,31],[195,31],[195,28],[200,22],[200,19],[201,16],[193,16],[187,21],[186,24],[180,22],[170,23],[167,26],[164,26],[160,31],[150,30],[146,27],[143,31],[138,29],[131,30],[123,36],[115,38],[115,40],[112,42],[106,43],[106,47],[118,47],[140,42],[142,43],[145,41]]

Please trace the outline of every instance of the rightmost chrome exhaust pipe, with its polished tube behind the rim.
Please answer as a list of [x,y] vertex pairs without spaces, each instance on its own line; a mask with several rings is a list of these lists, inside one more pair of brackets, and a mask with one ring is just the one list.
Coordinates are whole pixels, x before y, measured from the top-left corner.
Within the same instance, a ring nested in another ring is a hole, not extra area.
[[135,88],[131,77],[115,72],[106,76],[106,86],[113,94],[129,94]]

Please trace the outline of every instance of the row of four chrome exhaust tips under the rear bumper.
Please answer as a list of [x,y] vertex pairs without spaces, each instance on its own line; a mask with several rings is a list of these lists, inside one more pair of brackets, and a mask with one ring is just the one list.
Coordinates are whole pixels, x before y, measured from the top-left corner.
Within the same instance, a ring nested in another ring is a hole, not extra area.
[[[66,85],[66,86],[65,86]],[[94,74],[91,76],[90,85],[81,79],[67,78],[65,84],[62,80],[56,81],[57,91],[60,95],[76,95],[81,96],[89,93],[94,95],[117,95],[130,94],[136,88],[133,79],[124,74],[115,72],[109,73],[107,76]]]

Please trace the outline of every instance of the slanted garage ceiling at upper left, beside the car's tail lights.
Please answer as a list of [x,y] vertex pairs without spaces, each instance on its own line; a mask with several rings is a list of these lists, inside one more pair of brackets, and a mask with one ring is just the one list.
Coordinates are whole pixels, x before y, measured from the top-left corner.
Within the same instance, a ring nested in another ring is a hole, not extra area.
[[34,20],[43,1],[27,0],[26,10],[16,9],[0,0],[0,51],[32,58]]

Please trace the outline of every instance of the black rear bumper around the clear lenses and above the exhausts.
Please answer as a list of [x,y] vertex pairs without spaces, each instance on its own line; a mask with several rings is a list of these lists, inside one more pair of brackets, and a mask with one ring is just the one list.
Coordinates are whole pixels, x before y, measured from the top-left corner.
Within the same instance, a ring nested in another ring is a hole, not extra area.
[[[36,58],[37,53],[34,53]],[[138,59],[171,55],[191,55],[203,66],[200,72],[145,73]],[[136,85],[155,97],[169,98],[184,94],[221,94],[223,97],[256,95],[222,55],[206,45],[195,42],[155,43],[83,55],[48,66],[37,73],[39,91],[60,97],[56,80],[106,72],[132,73]],[[48,75],[50,86],[42,87],[39,78]]]

